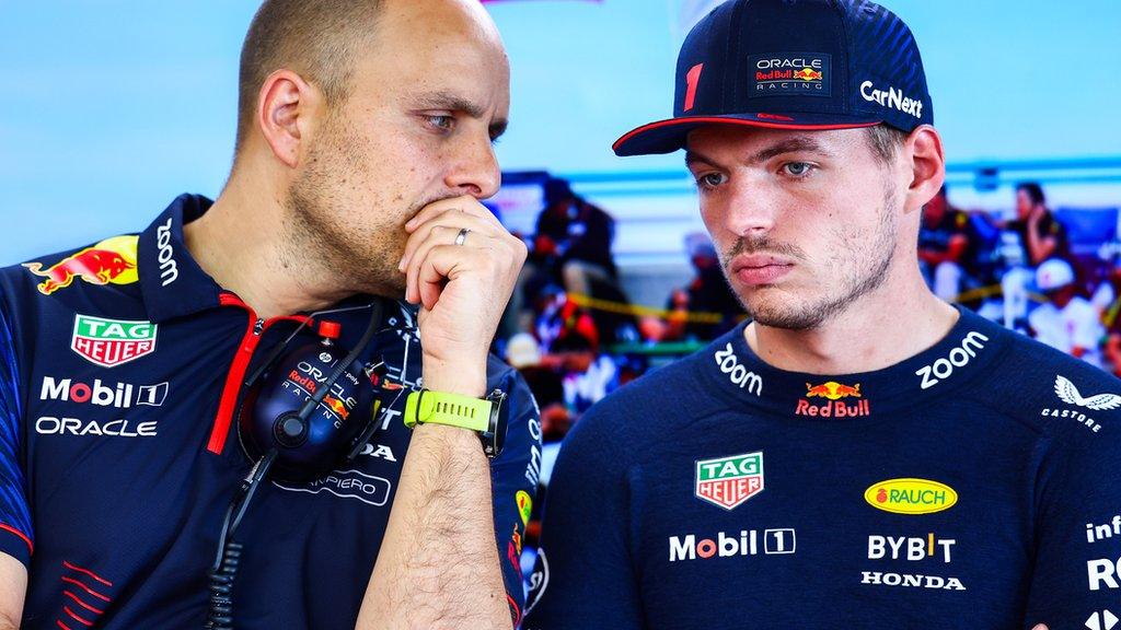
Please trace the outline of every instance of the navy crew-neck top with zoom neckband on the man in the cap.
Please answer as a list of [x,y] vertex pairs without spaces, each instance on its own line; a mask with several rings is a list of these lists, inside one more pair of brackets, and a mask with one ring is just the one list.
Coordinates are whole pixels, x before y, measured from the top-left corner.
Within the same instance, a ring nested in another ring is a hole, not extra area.
[[739,326],[568,435],[525,628],[1113,628],[1119,395],[969,311],[835,377]]

